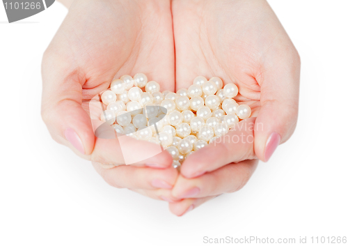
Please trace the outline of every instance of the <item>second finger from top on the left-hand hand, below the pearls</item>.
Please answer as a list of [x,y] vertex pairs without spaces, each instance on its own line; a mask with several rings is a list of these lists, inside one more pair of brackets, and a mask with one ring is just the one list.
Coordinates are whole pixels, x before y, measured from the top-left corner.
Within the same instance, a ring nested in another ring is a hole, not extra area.
[[118,166],[104,169],[98,162],[92,162],[95,170],[113,187],[128,189],[171,189],[177,179],[177,170],[152,169],[148,167]]

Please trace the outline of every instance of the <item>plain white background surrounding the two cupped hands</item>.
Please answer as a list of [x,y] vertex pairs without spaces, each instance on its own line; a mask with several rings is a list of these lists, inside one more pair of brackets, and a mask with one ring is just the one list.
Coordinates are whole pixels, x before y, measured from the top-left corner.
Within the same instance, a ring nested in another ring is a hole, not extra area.
[[60,3],[7,24],[0,6],[0,245],[206,245],[203,236],[348,236],[348,1],[269,1],[301,55],[290,141],[235,194],[183,217],[107,185],[40,118],[42,53]]

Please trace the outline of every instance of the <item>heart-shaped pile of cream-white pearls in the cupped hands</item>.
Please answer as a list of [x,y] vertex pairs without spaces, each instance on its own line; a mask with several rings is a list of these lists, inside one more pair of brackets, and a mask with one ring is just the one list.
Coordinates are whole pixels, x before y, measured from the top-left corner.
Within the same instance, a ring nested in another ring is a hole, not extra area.
[[188,89],[173,93],[160,92],[159,84],[148,82],[143,73],[123,75],[102,93],[106,110],[100,119],[118,134],[161,144],[177,168],[194,151],[251,116],[248,105],[233,99],[237,94],[235,84],[223,86],[219,77],[198,76]]

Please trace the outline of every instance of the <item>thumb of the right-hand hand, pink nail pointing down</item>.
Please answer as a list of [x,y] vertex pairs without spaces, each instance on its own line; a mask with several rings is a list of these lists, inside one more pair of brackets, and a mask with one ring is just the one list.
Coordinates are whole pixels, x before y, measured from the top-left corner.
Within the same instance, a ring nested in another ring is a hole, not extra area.
[[254,151],[264,162],[291,137],[299,110],[299,56],[294,50],[292,56],[281,60],[265,66],[263,74],[256,78],[261,108],[254,126]]

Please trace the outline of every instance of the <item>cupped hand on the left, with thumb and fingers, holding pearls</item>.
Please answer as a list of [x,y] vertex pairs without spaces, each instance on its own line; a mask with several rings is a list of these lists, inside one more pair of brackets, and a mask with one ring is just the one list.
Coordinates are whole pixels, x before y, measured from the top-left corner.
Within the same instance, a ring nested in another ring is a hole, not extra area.
[[[174,90],[170,1],[74,1],[42,60],[42,118],[52,137],[91,160],[107,183],[171,199],[168,189],[177,171],[166,151],[134,166],[114,167],[122,164],[120,144],[96,138],[93,131],[88,102],[114,77],[136,72]],[[136,146],[143,152],[154,148],[128,144],[126,151]]]

